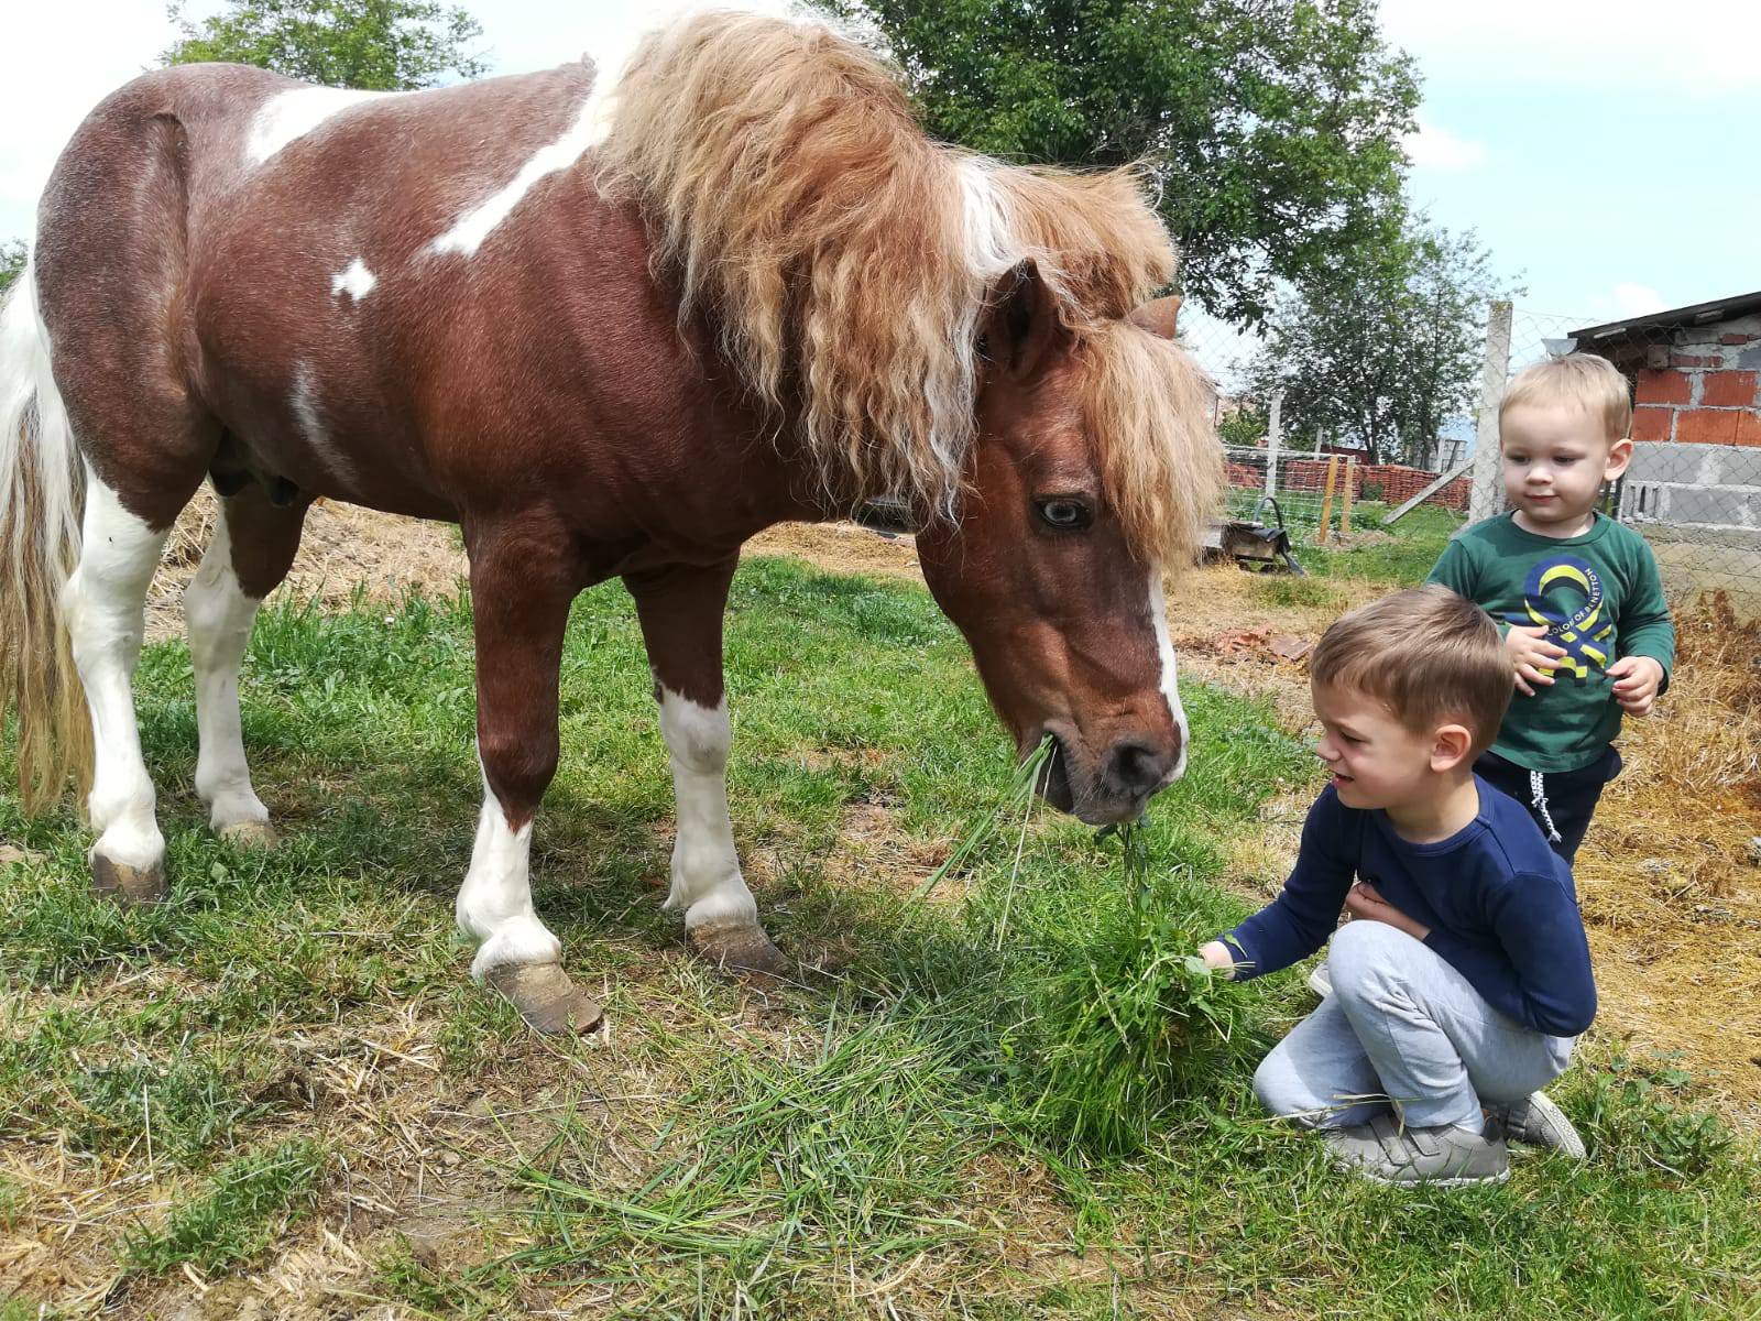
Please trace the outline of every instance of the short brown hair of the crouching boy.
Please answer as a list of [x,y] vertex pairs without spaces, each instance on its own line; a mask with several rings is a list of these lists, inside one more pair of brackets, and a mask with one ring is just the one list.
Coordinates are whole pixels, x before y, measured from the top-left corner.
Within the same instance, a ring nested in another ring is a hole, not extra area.
[[1472,756],[1499,736],[1516,687],[1499,625],[1437,583],[1337,620],[1308,660],[1308,678],[1375,697],[1414,733],[1460,722],[1474,736]]

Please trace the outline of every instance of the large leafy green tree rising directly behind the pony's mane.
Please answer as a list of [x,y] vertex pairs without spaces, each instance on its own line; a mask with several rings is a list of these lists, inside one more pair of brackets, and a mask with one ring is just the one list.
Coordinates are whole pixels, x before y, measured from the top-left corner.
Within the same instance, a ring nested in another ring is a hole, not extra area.
[[1213,315],[1256,322],[1379,234],[1419,100],[1375,0],[817,0],[870,25],[930,132],[1058,166],[1146,160]]

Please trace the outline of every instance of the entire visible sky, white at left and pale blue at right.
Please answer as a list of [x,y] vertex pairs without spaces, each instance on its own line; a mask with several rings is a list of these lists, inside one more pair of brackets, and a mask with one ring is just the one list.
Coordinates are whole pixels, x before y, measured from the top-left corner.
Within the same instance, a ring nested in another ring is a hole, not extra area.
[[[467,7],[495,72],[623,46],[660,9]],[[0,77],[0,238],[30,234],[67,134],[171,39],[158,0],[23,9]],[[1529,287],[1520,306],[1608,321],[1761,289],[1761,4],[1384,0],[1382,25],[1425,83],[1411,192],[1479,232]]]

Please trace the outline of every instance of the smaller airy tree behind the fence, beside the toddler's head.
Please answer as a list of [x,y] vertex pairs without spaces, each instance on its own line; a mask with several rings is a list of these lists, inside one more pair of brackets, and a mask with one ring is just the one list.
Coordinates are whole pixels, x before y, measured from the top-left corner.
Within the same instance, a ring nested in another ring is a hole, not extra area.
[[1439,430],[1474,409],[1486,308],[1514,292],[1472,231],[1407,218],[1278,299],[1249,393],[1284,391],[1298,446],[1354,442],[1370,463],[1433,467]]

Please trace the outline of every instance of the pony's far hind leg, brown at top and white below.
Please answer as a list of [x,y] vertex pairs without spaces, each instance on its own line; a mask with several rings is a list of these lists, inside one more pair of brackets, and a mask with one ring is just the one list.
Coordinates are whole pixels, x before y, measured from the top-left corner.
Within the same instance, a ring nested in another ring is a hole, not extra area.
[[306,500],[278,507],[252,484],[220,502],[213,541],[183,592],[195,669],[195,793],[208,824],[234,844],[269,847],[275,830],[245,764],[238,671],[262,599],[287,576],[299,550]]

